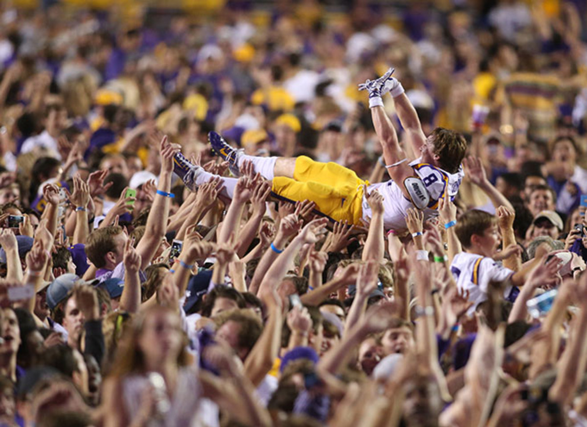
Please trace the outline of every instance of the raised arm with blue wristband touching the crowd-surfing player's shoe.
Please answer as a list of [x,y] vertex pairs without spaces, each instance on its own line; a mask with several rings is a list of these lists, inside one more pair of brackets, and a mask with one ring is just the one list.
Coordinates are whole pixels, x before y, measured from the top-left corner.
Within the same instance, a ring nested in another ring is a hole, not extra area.
[[167,137],[161,140],[161,173],[157,195],[151,206],[149,218],[147,218],[146,231],[143,238],[137,245],[137,253],[141,257],[141,270],[146,269],[151,259],[157,252],[161,239],[167,229],[167,217],[170,207],[170,198],[167,196],[171,191],[171,173],[173,172],[173,157],[178,153],[179,148],[167,142]]

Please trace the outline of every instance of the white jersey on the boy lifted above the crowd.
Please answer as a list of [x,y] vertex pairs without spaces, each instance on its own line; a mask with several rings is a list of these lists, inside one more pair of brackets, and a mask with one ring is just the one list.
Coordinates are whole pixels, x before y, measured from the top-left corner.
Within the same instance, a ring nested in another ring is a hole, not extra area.
[[[502,282],[514,272],[505,268],[500,263],[486,256],[475,253],[458,253],[450,265],[458,290],[468,290],[469,301],[473,307],[468,314],[475,311],[475,308],[487,299],[487,289],[491,281]],[[505,289],[504,297],[511,292],[511,286]]]

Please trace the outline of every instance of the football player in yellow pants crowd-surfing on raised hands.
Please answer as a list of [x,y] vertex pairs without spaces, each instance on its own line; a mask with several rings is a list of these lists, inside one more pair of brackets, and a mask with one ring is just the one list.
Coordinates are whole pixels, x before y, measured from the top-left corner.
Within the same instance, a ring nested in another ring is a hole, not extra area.
[[[416,207],[423,209],[424,219],[437,215],[438,199],[444,195],[448,185],[451,199],[456,196],[463,178],[461,161],[466,143],[464,138],[450,130],[436,128],[426,138],[416,110],[403,93],[402,85],[392,77],[393,69],[384,76],[359,86],[369,90],[375,131],[383,145],[383,155],[389,166],[392,181],[370,185],[352,170],[336,163],[320,163],[308,157],[255,157],[230,147],[217,133],[208,134],[215,153],[230,164],[230,170],[238,176],[244,161],[252,162],[255,172],[272,181],[272,190],[278,198],[289,201],[310,200],[316,209],[334,221],[348,221],[355,225],[370,222],[371,209],[367,203],[368,192],[376,189],[383,195],[383,222],[386,229],[399,232],[406,230],[406,211]],[[406,154],[400,148],[397,134],[389,117],[383,110],[381,96],[391,93],[396,109],[410,137],[416,153],[421,157],[407,162]],[[195,189],[213,177],[199,167],[195,167],[180,154],[176,157],[176,173],[188,188]],[[222,178],[224,195],[232,197],[236,180]]]

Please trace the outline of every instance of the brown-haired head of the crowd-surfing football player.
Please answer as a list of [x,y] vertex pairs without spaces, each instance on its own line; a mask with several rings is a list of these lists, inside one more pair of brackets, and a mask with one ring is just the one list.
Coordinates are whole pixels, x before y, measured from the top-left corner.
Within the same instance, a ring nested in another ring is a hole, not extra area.
[[460,133],[437,127],[429,135],[422,149],[422,155],[430,157],[437,166],[454,174],[465,157],[467,141]]

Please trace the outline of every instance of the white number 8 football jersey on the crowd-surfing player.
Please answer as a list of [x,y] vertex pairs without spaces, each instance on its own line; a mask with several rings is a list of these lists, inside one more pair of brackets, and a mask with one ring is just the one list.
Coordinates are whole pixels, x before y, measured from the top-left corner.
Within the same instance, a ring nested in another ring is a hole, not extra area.
[[[421,157],[411,162],[410,166],[414,170],[414,176],[422,180],[430,195],[430,203],[427,208],[423,209],[424,221],[438,216],[438,199],[444,197],[444,188],[448,185],[448,195],[450,195],[451,201],[454,200],[458,193],[458,187],[463,181],[463,167],[459,167],[455,174],[450,174],[433,165],[421,163]],[[406,211],[408,208],[414,208],[414,205],[404,196],[402,188],[393,179],[390,179],[387,182],[369,185],[367,191],[371,192],[374,189],[383,196],[383,225],[385,229],[405,231],[407,228]],[[363,196],[363,219],[368,223],[371,216],[371,208]]]

